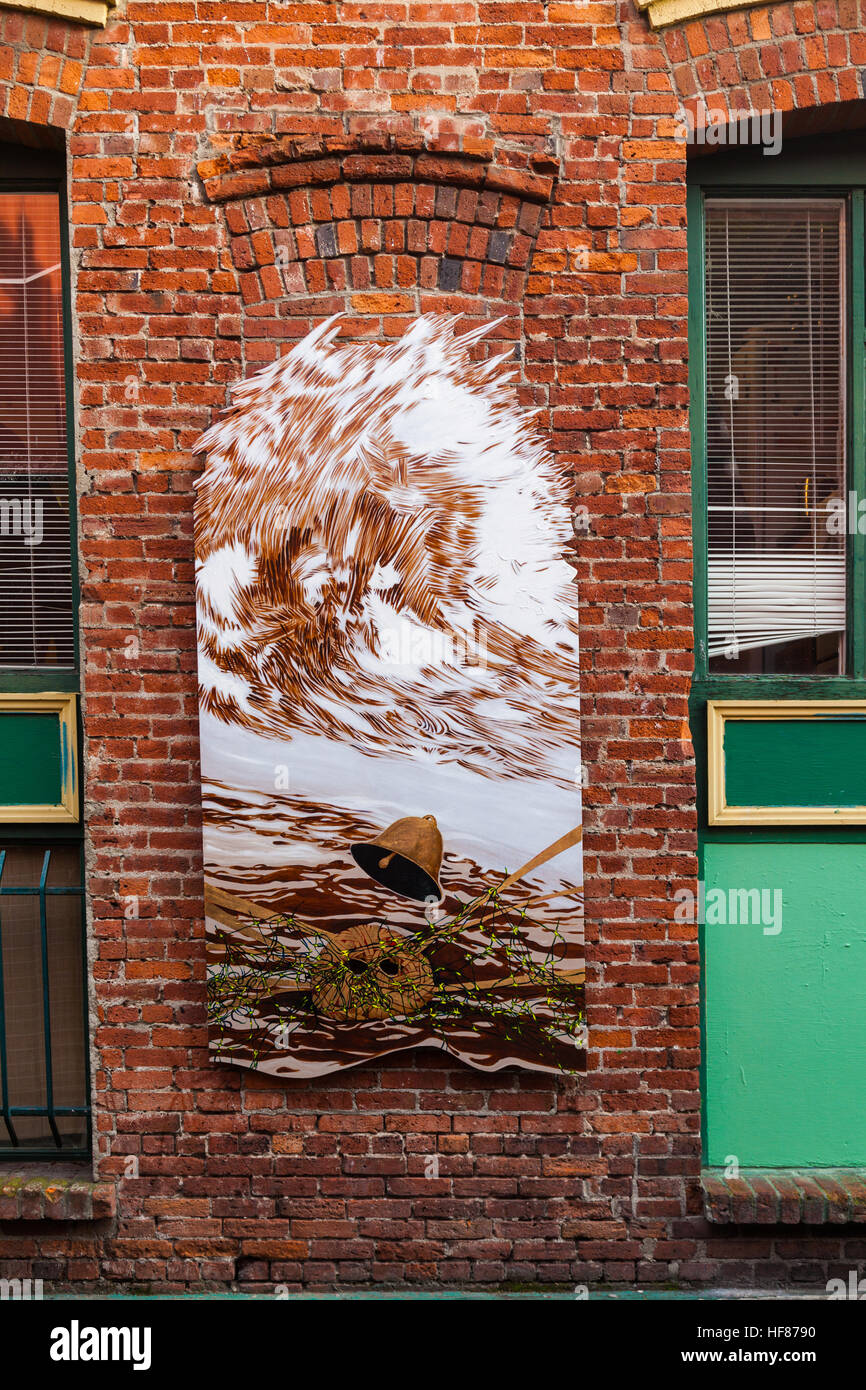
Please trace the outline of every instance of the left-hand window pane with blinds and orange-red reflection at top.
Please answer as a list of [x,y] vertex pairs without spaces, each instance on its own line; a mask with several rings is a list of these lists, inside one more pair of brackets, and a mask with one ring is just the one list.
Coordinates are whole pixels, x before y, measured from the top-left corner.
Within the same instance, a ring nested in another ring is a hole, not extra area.
[[0,193],[0,667],[74,667],[57,193]]

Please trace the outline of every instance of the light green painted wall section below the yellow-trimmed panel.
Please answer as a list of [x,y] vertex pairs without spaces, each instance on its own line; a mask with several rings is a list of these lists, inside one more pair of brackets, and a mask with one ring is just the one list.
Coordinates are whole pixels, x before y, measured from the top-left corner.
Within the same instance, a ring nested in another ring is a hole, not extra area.
[[866,844],[706,840],[703,876],[783,909],[703,927],[705,1163],[866,1163]]

